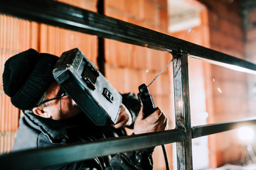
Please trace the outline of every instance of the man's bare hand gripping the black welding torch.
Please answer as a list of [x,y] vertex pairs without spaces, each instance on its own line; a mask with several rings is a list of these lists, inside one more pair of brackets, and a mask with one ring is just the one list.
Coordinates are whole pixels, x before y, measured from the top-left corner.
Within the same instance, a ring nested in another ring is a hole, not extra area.
[[143,119],[142,109],[134,123],[134,134],[146,132],[157,132],[168,128],[168,118],[159,108],[156,108],[151,115]]

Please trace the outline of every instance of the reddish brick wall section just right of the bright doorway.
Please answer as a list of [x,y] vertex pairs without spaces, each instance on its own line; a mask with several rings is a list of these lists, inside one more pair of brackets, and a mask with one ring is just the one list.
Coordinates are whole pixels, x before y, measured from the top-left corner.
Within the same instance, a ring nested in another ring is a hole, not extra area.
[[[199,1],[208,8],[210,48],[245,59],[239,1]],[[247,117],[247,74],[215,65],[207,68],[208,123]],[[210,167],[240,161],[241,146],[236,133],[233,130],[209,136]]]

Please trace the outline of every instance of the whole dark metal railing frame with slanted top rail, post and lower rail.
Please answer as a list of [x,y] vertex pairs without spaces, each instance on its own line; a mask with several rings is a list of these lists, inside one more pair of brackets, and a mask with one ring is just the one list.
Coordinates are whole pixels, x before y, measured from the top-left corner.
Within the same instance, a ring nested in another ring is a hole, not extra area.
[[[101,38],[110,38],[171,52],[174,56],[174,96],[176,103],[176,129],[174,130],[4,154],[0,156],[0,164],[3,169],[36,169],[172,142],[177,142],[178,169],[193,169],[191,148],[193,138],[224,132],[241,125],[256,125],[256,118],[248,118],[191,127],[188,57],[251,74],[256,74],[256,64],[58,1],[2,0],[0,1],[0,13],[97,35]],[[178,107],[178,102],[182,103],[182,107]],[[106,145],[108,147],[105,147]],[[46,159],[47,157],[54,159]]]

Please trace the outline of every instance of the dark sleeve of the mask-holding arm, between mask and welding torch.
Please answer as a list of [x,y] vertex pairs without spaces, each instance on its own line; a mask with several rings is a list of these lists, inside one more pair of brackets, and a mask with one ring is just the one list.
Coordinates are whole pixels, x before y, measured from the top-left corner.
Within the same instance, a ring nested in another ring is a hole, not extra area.
[[141,103],[139,103],[137,96],[132,92],[129,94],[122,94],[122,103],[132,115],[132,125],[127,126],[127,128],[132,129],[134,127],[134,120],[139,114]]

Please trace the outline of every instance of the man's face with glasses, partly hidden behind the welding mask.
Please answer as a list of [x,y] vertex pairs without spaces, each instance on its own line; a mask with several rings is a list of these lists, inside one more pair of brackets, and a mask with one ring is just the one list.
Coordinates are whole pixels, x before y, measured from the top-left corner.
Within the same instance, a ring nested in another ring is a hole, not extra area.
[[[63,94],[63,92],[65,91],[63,91],[63,89],[60,88],[60,85],[56,81],[54,81],[46,91],[46,99],[60,96],[61,94]],[[46,106],[42,109],[43,116],[40,116],[44,118],[52,118],[53,120],[72,118],[73,116],[78,115],[78,113],[81,112],[81,109],[78,107],[75,101],[70,98],[70,96],[63,96],[62,98],[56,98],[53,101],[48,101]]]

